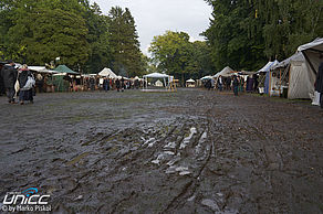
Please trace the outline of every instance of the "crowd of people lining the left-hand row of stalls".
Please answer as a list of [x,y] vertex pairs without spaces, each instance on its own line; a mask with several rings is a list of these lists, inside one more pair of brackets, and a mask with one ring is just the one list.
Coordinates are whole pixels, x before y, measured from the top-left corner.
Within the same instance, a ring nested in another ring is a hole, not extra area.
[[17,67],[13,61],[0,62],[0,95],[6,94],[10,104],[29,101],[33,104],[35,93],[43,92],[94,92],[139,89],[144,86],[139,78],[110,78],[108,76],[65,75],[62,78],[52,74],[30,71],[24,64]]

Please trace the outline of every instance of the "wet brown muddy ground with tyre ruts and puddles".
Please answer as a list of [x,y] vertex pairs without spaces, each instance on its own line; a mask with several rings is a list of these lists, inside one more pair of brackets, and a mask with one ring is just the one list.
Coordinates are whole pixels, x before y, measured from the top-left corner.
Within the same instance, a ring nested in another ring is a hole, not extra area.
[[[200,89],[0,97],[0,202],[61,213],[323,213],[323,110]],[[1,204],[0,204],[1,205]]]

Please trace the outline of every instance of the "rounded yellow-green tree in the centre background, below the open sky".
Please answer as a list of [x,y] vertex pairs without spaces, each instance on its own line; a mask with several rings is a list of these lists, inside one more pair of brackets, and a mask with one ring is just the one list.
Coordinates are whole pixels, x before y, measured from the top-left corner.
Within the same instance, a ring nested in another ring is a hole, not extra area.
[[189,42],[185,32],[166,31],[155,36],[148,50],[160,72],[181,79],[200,78],[212,69],[209,47],[205,42]]

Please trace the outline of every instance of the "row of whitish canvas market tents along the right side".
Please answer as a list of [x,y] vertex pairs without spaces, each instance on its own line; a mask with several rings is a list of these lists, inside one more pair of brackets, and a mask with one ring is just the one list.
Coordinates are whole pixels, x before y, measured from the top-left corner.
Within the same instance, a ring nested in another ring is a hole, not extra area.
[[[213,76],[205,76],[201,79],[227,77],[232,75],[258,75],[259,88],[269,96],[284,96],[289,99],[317,99],[314,84],[319,72],[319,65],[323,62],[323,39],[317,38],[313,42],[299,46],[295,54],[278,62],[268,62],[257,72],[237,72],[229,66]],[[315,103],[315,101],[314,101]]]

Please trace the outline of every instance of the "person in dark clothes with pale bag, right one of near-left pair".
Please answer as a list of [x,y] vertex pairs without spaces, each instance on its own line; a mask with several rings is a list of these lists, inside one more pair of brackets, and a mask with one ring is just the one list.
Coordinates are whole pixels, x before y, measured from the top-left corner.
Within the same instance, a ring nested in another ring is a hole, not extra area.
[[18,75],[19,82],[19,101],[21,105],[24,104],[25,100],[29,100],[33,104],[33,94],[32,88],[35,84],[34,77],[32,73],[28,69],[27,65],[23,65],[21,69],[19,69]]

